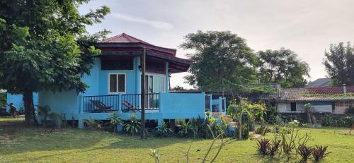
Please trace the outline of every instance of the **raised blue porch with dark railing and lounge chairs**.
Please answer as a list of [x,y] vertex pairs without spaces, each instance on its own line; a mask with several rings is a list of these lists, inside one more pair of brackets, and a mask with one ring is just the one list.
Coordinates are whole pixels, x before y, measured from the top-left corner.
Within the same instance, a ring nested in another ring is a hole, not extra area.
[[[226,113],[224,97],[212,99],[212,95],[200,93],[150,93],[146,94],[145,119],[205,119],[205,112]],[[141,94],[79,96],[79,113],[74,118],[79,122],[84,119],[108,119],[110,114],[118,112],[120,118],[130,119],[131,114],[141,116]],[[99,111],[105,108],[105,111]],[[83,125],[79,124],[79,127]]]

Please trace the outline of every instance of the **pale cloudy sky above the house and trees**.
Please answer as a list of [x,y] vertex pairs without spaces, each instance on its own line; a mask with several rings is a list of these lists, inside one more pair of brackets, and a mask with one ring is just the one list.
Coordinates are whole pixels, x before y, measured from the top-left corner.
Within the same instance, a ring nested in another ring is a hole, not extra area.
[[[331,43],[354,40],[354,1],[108,1],[96,0],[80,12],[109,6],[111,13],[89,32],[122,32],[161,47],[178,48],[183,36],[197,30],[230,30],[247,40],[255,52],[285,47],[310,68],[311,80],[324,78],[324,50]],[[186,73],[173,74],[171,86],[182,85]],[[189,86],[190,87],[190,86]]]

